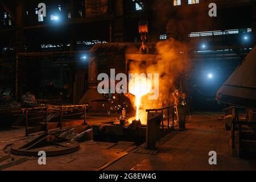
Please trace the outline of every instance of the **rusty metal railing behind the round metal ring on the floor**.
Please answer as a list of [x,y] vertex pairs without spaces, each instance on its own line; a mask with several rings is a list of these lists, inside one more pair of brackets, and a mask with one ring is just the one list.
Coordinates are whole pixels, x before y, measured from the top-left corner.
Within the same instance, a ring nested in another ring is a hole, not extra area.
[[[45,128],[44,131],[48,131],[47,129],[47,117],[48,117],[48,110],[49,109],[60,109],[60,129],[62,129],[62,122],[63,122],[63,110],[64,108],[68,108],[68,107],[83,107],[83,113],[84,113],[84,123],[83,125],[86,125],[86,106],[88,105],[64,105],[64,106],[43,106],[43,107],[32,107],[32,108],[24,108],[22,109],[23,111],[23,115],[24,115],[24,122],[25,122],[25,129],[26,129],[26,136],[28,136],[28,111],[33,111],[33,110],[45,110]],[[39,117],[39,118],[43,118],[43,117]],[[32,119],[36,119],[36,118],[32,118]]]

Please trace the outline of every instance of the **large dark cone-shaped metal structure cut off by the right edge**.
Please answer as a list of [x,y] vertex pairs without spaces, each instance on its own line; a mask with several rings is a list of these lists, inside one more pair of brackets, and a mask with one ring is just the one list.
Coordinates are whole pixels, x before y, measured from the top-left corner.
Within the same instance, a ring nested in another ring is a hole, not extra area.
[[216,100],[256,108],[256,46],[218,90]]

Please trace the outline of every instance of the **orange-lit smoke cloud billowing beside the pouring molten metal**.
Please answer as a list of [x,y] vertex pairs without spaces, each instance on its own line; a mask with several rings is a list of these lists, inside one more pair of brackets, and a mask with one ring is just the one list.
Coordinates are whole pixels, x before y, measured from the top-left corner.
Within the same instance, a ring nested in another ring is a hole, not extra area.
[[[159,74],[158,100],[147,100],[147,96],[142,98],[139,115],[143,123],[146,122],[146,109],[171,105],[171,93],[179,86],[176,82],[180,75],[187,73],[190,68],[189,49],[185,44],[171,38],[156,43],[155,48],[157,55],[155,61],[146,61],[146,63],[135,61],[129,65],[129,73]],[[133,103],[134,101],[135,98],[131,100]]]

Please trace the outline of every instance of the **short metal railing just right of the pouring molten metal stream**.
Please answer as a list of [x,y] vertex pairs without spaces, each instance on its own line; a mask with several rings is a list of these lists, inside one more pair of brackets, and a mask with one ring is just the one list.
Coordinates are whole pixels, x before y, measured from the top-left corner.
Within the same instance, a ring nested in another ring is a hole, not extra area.
[[166,110],[166,117],[163,117],[162,121],[161,121],[161,125],[162,125],[162,130],[164,131],[164,121],[167,120],[167,128],[170,129],[170,118],[172,119],[172,128],[174,128],[174,106],[175,105],[171,105],[171,106],[167,106],[167,107],[162,107],[159,109],[147,109],[146,112],[147,113],[163,113],[164,114],[164,110]]

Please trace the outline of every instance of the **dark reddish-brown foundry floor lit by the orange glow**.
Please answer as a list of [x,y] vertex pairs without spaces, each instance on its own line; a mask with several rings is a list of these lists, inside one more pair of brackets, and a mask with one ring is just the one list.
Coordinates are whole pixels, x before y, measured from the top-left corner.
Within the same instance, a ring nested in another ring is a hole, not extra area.
[[[98,170],[113,159],[104,170],[255,170],[255,160],[242,160],[229,155],[229,131],[221,113],[193,113],[185,131],[173,131],[158,143],[155,155],[129,151],[132,143],[83,142],[81,149],[73,154],[47,158],[47,165],[39,165],[37,158],[5,170]],[[116,115],[88,116],[88,123],[98,123],[117,118]],[[24,129],[0,131],[0,149],[24,138]],[[128,149],[129,152],[126,152]],[[209,165],[209,151],[217,152],[217,165]],[[128,154],[127,154],[128,153]],[[1,155],[1,153],[0,153]]]

